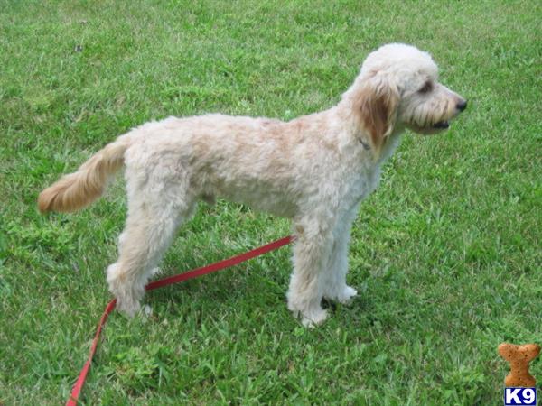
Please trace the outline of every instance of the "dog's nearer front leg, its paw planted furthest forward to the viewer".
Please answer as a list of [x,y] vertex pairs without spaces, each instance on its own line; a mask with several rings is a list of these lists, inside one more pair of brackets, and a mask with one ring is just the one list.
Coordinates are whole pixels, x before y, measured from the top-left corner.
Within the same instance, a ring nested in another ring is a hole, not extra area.
[[327,318],[322,309],[323,272],[332,249],[332,230],[314,220],[296,222],[294,272],[287,294],[288,309],[300,316],[304,326],[313,327]]

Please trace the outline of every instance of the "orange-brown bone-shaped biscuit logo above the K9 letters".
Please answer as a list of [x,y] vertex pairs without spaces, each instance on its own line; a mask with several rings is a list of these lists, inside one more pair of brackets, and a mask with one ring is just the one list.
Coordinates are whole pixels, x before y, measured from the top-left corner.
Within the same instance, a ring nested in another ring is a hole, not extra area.
[[537,381],[534,376],[528,373],[528,363],[540,354],[540,346],[537,344],[515,344],[502,343],[499,346],[499,354],[510,364],[510,373],[504,379],[505,386],[532,388]]

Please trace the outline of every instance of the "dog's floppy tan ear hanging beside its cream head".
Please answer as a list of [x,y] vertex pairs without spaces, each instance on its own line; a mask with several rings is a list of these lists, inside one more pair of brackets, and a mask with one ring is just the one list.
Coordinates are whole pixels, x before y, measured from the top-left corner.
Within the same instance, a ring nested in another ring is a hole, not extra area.
[[369,134],[369,141],[377,156],[393,132],[398,103],[397,87],[375,77],[364,80],[355,94],[354,114],[360,119],[360,130]]

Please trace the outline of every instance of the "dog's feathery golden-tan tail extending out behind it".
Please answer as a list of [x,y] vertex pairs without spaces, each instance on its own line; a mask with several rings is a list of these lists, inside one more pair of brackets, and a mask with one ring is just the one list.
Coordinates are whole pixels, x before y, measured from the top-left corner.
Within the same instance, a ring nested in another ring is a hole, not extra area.
[[64,175],[44,189],[38,197],[40,211],[70,212],[89,206],[101,196],[111,175],[124,164],[128,146],[126,136],[119,137],[91,156],[78,171]]

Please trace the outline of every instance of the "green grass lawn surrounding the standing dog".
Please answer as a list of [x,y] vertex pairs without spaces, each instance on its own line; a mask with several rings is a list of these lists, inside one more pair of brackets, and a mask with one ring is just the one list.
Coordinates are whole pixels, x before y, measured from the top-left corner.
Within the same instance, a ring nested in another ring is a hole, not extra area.
[[[302,328],[287,248],[153,291],[151,317],[109,319],[82,400],[500,404],[497,346],[542,342],[539,2],[125,3],[0,1],[0,403],[67,399],[126,215],[120,181],[69,216],[39,215],[41,189],[150,119],[327,108],[369,51],[410,42],[469,108],[445,134],[406,134],[362,205],[352,306]],[[164,272],[288,231],[201,205]]]

